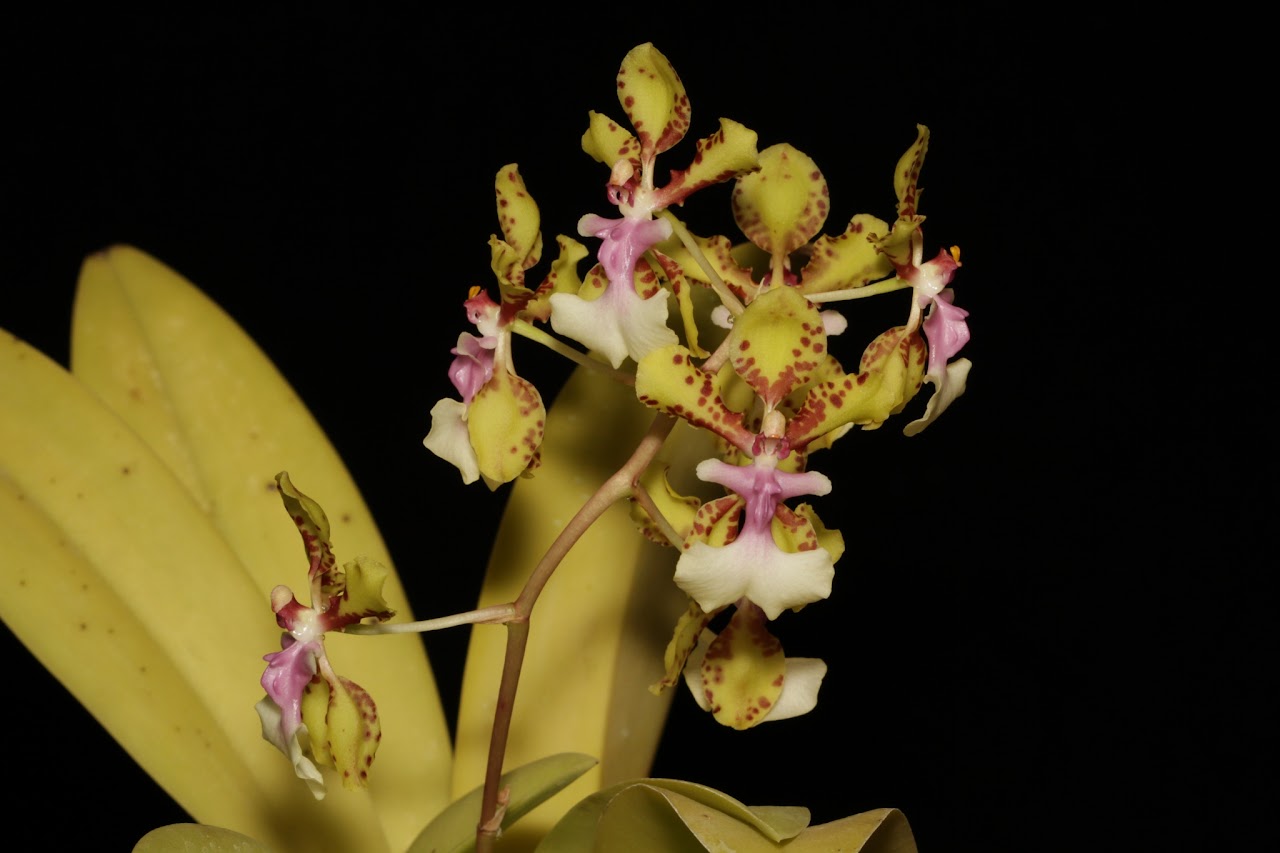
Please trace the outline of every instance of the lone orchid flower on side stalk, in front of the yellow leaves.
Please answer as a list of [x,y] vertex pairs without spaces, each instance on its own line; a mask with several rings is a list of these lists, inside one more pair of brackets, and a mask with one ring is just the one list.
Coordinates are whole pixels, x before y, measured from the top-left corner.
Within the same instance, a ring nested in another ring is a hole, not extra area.
[[285,634],[282,651],[264,658],[266,695],[256,710],[262,738],[284,753],[315,798],[323,799],[324,777],[316,765],[335,768],[344,788],[364,788],[381,740],[374,699],[333,671],[325,654],[325,631],[369,617],[385,621],[394,612],[381,593],[388,569],[367,560],[338,569],[324,510],[298,492],[288,474],[279,474],[276,484],[310,561],[311,607],[301,605],[288,587],[271,590],[271,610]]

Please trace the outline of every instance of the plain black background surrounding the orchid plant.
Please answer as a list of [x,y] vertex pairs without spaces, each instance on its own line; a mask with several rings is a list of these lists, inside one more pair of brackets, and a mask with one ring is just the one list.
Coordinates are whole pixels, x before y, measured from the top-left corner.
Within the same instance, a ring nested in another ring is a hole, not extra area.
[[[589,109],[622,118],[613,74],[643,41],[685,82],[691,138],[726,115],[762,149],[788,141],[818,161],[827,231],[892,215],[892,167],[927,123],[927,251],[964,250],[969,392],[920,437],[891,424],[822,461],[835,491],[819,508],[851,547],[831,599],[778,628],[831,667],[818,710],[739,734],[682,694],[654,775],[806,804],[815,821],[896,806],[925,850],[1216,838],[1196,816],[1262,772],[1245,734],[1258,711],[1229,663],[1261,633],[1248,590],[1262,569],[1251,520],[1219,511],[1225,451],[1201,416],[1217,403],[1188,415],[1213,377],[1196,360],[1170,377],[1172,318],[1147,298],[1169,270],[1144,265],[1135,234],[1140,187],[1158,179],[1138,149],[1161,137],[1132,119],[1161,72],[1126,63],[1103,18],[449,15],[14,23],[0,327],[65,362],[84,255],[127,242],[174,266],[307,401],[419,615],[443,615],[474,603],[485,555],[431,558],[422,529],[485,542],[504,494],[462,489],[421,447],[452,394],[461,300],[492,286],[494,172],[520,163],[548,242],[608,213],[579,138]],[[695,231],[728,233],[727,200],[695,196]],[[881,301],[849,311],[863,339],[905,310]],[[531,348],[521,370],[549,397],[567,371]],[[425,642],[456,713],[466,631]],[[64,847],[128,849],[183,818],[12,638],[6,651],[18,784],[91,818],[59,822]],[[1175,811],[1188,794],[1196,809]],[[49,840],[6,802],[6,836]]]

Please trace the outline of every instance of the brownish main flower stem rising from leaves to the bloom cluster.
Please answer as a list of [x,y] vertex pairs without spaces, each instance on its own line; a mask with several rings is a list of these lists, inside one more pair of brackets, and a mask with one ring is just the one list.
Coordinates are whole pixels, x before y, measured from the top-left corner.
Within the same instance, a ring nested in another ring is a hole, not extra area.
[[538,561],[525,581],[524,589],[515,603],[515,612],[506,620],[507,651],[502,663],[502,680],[498,685],[498,703],[493,715],[493,734],[489,736],[489,761],[485,766],[484,797],[480,806],[480,822],[476,825],[476,852],[490,853],[497,838],[495,816],[499,807],[498,783],[502,777],[502,762],[507,753],[507,738],[511,734],[512,712],[516,706],[516,689],[520,686],[520,670],[525,662],[525,648],[529,644],[529,619],[534,605],[541,594],[570,549],[582,538],[582,534],[618,500],[631,494],[632,484],[640,478],[649,462],[662,450],[667,435],[676,425],[671,415],[658,415],[649,425],[649,432],[636,446],[622,467],[600,484],[586,503],[570,519],[564,529]]

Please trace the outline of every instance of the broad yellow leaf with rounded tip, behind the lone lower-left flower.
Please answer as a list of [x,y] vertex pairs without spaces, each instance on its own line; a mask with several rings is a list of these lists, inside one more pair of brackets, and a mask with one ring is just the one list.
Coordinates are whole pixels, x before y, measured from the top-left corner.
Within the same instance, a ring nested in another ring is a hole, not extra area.
[[[328,508],[340,555],[393,565],[351,475],[293,389],[225,313],[155,259],[116,246],[86,260],[72,369],[206,508],[248,570],[257,608],[276,584],[293,585],[302,576],[282,574],[302,567],[298,534],[283,519],[274,488],[280,470]],[[352,405],[362,405],[357,388],[334,393],[351,393]],[[412,619],[394,571],[384,596]],[[273,638],[255,657],[279,646],[266,616],[262,630]],[[449,731],[422,644],[411,635],[376,643],[335,635],[328,648],[342,671],[378,697],[396,730],[397,748],[379,761],[372,797],[392,845],[403,848],[449,794]],[[333,802],[326,800],[330,809]]]

